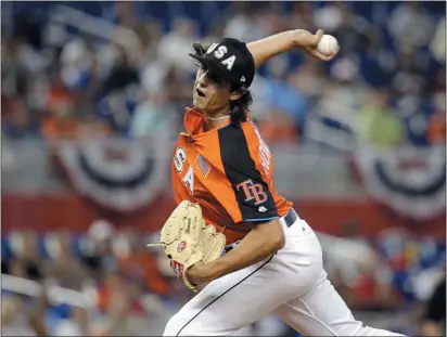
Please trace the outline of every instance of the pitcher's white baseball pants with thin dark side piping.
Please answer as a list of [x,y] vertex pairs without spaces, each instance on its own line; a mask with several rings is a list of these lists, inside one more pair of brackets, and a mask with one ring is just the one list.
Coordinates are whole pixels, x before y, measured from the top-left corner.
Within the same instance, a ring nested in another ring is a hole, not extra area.
[[[293,211],[293,210],[292,210]],[[272,257],[209,283],[166,325],[164,336],[227,336],[269,313],[304,336],[404,336],[362,326],[336,293],[306,221],[288,228]]]

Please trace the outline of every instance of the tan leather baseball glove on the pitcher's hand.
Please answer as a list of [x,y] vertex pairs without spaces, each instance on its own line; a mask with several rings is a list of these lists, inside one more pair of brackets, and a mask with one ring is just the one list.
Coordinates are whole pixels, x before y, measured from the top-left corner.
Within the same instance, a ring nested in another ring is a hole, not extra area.
[[183,200],[164,224],[159,245],[171,260],[177,277],[195,291],[195,286],[187,278],[188,268],[200,261],[208,263],[218,259],[226,237],[206,224],[199,204]]

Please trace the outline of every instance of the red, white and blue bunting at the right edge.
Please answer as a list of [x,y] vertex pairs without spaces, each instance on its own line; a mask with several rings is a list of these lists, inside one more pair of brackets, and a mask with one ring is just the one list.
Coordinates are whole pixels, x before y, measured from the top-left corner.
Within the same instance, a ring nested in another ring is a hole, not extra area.
[[445,146],[359,146],[356,167],[369,195],[395,212],[429,220],[446,209]]

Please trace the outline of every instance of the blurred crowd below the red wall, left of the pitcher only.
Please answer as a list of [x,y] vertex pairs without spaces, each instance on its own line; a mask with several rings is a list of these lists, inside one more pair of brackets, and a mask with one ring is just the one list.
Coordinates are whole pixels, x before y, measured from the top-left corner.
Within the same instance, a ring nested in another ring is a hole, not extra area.
[[[132,230],[118,233],[103,220],[92,223],[89,232],[79,236],[62,231],[37,235],[31,230],[3,236],[2,273],[38,282],[43,287],[33,298],[20,295],[28,289],[14,288],[14,280],[12,285],[3,284],[3,333],[159,334],[174,310],[169,309],[171,299],[181,302],[189,294],[177,282],[173,283],[174,274],[161,254],[163,250],[148,250],[146,242],[144,235]],[[63,287],[60,297],[52,294],[55,286]],[[65,294],[69,290],[79,291],[75,297],[80,299],[86,294],[88,301],[76,304]]]

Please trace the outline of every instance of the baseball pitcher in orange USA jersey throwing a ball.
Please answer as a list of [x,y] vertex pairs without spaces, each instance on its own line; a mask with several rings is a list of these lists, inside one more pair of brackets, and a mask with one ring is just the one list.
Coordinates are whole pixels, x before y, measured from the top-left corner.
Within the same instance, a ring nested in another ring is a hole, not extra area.
[[192,108],[171,163],[178,207],[161,245],[177,276],[201,291],[165,336],[231,335],[269,313],[304,336],[403,336],[354,319],[327,278],[312,229],[276,191],[272,155],[250,115],[255,69],[294,48],[329,61],[337,49],[323,53],[321,38],[297,29],[193,44]]

